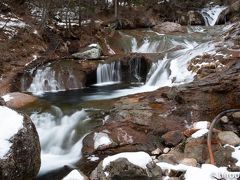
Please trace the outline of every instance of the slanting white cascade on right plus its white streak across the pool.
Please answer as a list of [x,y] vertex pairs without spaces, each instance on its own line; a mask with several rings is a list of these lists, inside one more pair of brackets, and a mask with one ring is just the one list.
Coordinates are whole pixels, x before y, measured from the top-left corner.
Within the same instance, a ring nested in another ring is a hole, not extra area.
[[145,85],[130,89],[116,90],[108,95],[86,96],[85,100],[112,99],[126,95],[137,94],[142,92],[150,92],[164,86],[177,86],[190,83],[194,80],[195,73],[188,70],[190,61],[198,55],[204,53],[213,53],[215,46],[212,42],[196,44],[193,42],[188,44],[185,49],[178,50],[160,59],[157,63],[153,63],[148,73]]

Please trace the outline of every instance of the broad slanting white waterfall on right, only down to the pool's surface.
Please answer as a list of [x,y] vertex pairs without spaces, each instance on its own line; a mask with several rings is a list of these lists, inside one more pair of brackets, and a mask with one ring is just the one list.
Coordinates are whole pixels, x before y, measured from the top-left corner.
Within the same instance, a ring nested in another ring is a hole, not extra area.
[[157,88],[163,86],[173,86],[193,81],[194,74],[188,71],[189,61],[198,55],[202,55],[204,52],[211,52],[214,50],[214,45],[210,43],[203,43],[192,47],[193,49],[187,49],[181,51],[175,58],[163,58],[153,68],[156,69],[152,75],[148,78],[146,86],[155,86]]

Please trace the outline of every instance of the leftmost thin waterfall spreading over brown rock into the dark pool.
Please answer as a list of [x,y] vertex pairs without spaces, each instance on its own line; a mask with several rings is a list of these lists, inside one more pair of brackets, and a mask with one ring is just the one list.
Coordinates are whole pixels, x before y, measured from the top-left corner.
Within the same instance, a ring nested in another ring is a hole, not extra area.
[[[25,90],[24,78],[22,79],[22,89]],[[82,88],[82,82],[78,81],[72,70],[55,71],[52,67],[43,67],[35,72],[28,92],[41,95],[45,92],[65,91]]]

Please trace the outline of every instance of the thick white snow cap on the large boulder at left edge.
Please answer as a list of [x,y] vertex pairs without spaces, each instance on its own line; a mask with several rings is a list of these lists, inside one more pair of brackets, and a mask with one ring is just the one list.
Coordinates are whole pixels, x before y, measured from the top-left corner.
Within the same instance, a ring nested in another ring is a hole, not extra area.
[[9,139],[23,128],[23,116],[5,106],[0,106],[0,159],[6,157],[12,143]]

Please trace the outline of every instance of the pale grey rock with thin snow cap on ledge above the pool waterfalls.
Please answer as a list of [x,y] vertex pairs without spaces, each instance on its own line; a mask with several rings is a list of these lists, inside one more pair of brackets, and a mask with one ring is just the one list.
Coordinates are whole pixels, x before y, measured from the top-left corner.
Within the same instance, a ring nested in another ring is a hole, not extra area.
[[85,51],[72,54],[72,57],[76,59],[99,59],[101,54],[101,47],[98,44],[91,44]]

